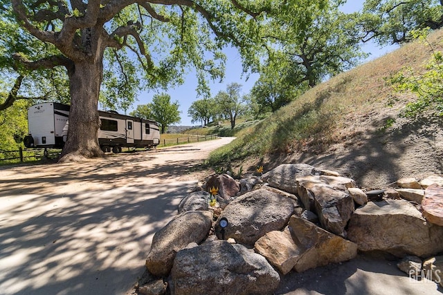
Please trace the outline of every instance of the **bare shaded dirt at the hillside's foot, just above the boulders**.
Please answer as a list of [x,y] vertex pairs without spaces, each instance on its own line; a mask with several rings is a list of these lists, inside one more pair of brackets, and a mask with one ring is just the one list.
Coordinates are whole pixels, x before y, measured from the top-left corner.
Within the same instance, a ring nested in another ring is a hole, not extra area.
[[[396,122],[381,129],[380,122],[391,117]],[[397,117],[395,110],[379,108],[361,117],[348,118],[343,130],[347,135],[323,152],[266,155],[236,163],[235,167],[242,165],[254,171],[256,166],[263,165],[266,172],[282,163],[306,163],[338,171],[366,191],[395,187],[400,178],[422,180],[429,175],[443,175],[443,119],[411,122]]]

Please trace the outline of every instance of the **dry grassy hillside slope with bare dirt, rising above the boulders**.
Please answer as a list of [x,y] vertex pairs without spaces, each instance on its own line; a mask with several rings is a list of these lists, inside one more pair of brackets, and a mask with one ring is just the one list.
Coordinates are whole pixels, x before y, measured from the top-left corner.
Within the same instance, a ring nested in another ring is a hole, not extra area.
[[[434,50],[443,50],[442,40],[442,30],[428,37]],[[395,93],[387,83],[406,66],[419,73],[431,54],[417,41],[337,75],[244,131],[211,160],[230,158],[244,170],[264,165],[265,171],[304,162],[339,171],[366,188],[442,174],[442,120],[399,117],[414,97]]]

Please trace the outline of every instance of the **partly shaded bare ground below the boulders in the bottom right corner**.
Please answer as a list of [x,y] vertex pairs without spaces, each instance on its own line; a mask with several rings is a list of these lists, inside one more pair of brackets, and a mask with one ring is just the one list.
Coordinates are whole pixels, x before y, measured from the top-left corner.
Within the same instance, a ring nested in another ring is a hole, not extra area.
[[441,294],[429,281],[409,278],[392,261],[373,254],[359,254],[344,263],[290,272],[282,277],[275,294]]

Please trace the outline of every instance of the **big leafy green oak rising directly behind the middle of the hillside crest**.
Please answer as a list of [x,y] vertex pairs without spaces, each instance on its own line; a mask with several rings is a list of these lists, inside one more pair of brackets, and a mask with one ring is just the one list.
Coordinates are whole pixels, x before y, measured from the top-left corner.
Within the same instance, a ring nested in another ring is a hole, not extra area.
[[[290,16],[270,21],[266,32],[274,45],[267,48],[267,62],[261,71],[262,86],[269,86],[271,79],[278,77],[280,86],[291,85],[289,92],[294,88],[303,90],[359,63],[365,56],[359,47],[359,31],[354,28],[352,18],[338,9],[343,2],[329,1],[323,9],[312,12],[312,22],[307,27],[300,28]],[[266,96],[273,101],[281,99],[284,104],[291,94],[269,89]]]

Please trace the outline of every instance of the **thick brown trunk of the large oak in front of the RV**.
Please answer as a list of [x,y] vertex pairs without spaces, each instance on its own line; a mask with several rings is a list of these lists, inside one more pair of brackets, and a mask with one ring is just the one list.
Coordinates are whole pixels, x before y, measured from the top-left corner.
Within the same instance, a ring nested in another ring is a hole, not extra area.
[[103,67],[101,59],[97,60],[77,62],[68,70],[71,93],[69,129],[59,162],[104,156],[98,144],[98,96]]

